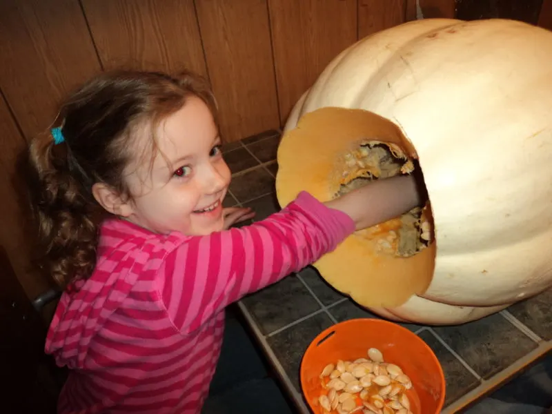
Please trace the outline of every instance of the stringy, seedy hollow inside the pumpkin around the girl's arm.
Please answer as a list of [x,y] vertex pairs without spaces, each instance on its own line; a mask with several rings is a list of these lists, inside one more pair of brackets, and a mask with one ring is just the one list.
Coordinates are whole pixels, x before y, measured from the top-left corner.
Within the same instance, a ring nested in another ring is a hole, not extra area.
[[[370,181],[404,175],[421,170],[417,159],[406,157],[393,144],[363,140],[353,151],[343,155],[342,181],[335,196],[365,186]],[[423,180],[423,179],[422,179]],[[377,253],[411,257],[420,253],[433,240],[431,216],[424,208],[413,208],[401,217],[359,230],[355,233],[374,244]],[[422,226],[422,223],[423,224]]]

